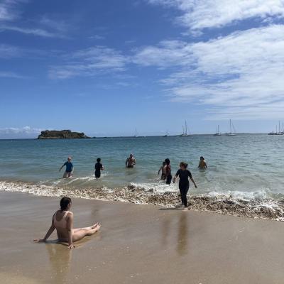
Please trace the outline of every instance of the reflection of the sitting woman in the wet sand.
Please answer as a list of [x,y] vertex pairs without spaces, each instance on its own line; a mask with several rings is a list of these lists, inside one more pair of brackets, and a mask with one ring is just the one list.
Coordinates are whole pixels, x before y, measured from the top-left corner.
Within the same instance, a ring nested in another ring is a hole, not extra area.
[[46,244],[50,260],[50,278],[53,283],[67,283],[70,273],[72,251],[59,244]]

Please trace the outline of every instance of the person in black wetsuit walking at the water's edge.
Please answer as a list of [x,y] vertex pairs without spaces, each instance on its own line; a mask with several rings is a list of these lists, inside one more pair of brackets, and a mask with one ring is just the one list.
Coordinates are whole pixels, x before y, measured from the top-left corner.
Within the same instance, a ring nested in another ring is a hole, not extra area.
[[176,178],[180,178],[180,182],[178,184],[178,187],[180,188],[180,195],[182,199],[182,205],[186,208],[187,207],[187,192],[190,189],[190,182],[188,178],[193,182],[195,185],[195,188],[197,188],[197,185],[195,181],[192,178],[192,175],[189,170],[187,170],[187,163],[181,162],[180,163],[180,170],[175,174],[175,178],[173,178],[173,182],[175,182]]

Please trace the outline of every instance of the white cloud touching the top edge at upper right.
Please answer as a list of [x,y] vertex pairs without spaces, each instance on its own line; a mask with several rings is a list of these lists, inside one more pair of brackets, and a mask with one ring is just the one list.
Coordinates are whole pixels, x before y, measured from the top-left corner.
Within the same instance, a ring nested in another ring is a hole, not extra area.
[[182,12],[178,23],[191,30],[219,28],[249,18],[284,17],[283,0],[148,0]]

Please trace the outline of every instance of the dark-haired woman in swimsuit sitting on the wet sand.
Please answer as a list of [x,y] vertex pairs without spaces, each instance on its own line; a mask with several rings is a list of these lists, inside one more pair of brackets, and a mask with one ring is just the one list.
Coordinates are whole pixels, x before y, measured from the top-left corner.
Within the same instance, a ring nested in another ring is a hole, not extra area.
[[49,236],[56,229],[58,233],[58,241],[64,241],[68,243],[68,249],[74,249],[73,242],[83,239],[84,236],[91,236],[96,231],[99,231],[101,224],[96,223],[93,226],[87,226],[85,228],[73,229],[73,213],[70,212],[72,205],[71,198],[62,197],[60,200],[60,210],[53,214],[53,219],[48,232],[43,239],[35,239],[35,242],[45,242]]

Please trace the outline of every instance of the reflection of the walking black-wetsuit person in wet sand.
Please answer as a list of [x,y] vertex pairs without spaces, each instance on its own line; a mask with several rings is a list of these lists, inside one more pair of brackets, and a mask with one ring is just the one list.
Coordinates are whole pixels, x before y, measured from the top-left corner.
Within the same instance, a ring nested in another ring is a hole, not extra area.
[[187,240],[188,228],[187,228],[187,219],[188,212],[180,212],[180,220],[178,222],[178,241],[177,241],[177,252],[180,256],[185,256],[187,254]]

